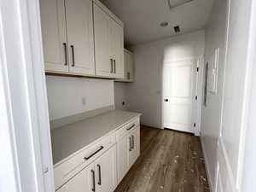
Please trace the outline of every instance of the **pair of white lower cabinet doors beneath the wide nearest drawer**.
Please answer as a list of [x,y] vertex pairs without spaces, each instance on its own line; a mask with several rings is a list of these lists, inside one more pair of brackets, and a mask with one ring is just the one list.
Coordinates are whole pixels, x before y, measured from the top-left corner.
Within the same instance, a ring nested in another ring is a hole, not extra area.
[[61,186],[57,192],[112,192],[116,186],[116,145],[114,145]]

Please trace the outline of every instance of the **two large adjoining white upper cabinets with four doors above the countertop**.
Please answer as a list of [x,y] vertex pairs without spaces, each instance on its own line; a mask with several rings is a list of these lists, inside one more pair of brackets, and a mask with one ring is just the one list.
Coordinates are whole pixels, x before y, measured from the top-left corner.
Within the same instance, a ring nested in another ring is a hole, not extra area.
[[98,0],[40,0],[46,72],[124,78],[124,26]]

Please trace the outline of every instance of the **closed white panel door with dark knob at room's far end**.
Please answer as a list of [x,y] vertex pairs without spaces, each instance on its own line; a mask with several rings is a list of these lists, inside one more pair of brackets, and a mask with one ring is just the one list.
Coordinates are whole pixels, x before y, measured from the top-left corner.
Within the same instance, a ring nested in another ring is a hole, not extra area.
[[163,68],[163,125],[194,133],[197,110],[197,61],[172,61]]

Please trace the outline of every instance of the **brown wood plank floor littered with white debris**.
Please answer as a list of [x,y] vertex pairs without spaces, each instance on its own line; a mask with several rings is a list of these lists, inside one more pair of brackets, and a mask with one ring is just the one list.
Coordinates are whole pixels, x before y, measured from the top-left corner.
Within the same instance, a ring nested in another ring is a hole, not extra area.
[[141,155],[114,192],[209,192],[199,137],[141,126]]

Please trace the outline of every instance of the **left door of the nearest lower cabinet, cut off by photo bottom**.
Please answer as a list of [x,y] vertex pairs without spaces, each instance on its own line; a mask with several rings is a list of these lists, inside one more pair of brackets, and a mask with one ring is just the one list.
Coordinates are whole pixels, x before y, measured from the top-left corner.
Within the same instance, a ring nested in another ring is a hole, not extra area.
[[95,189],[93,179],[95,177],[94,164],[87,166],[83,171],[64,184],[57,192],[90,192]]

